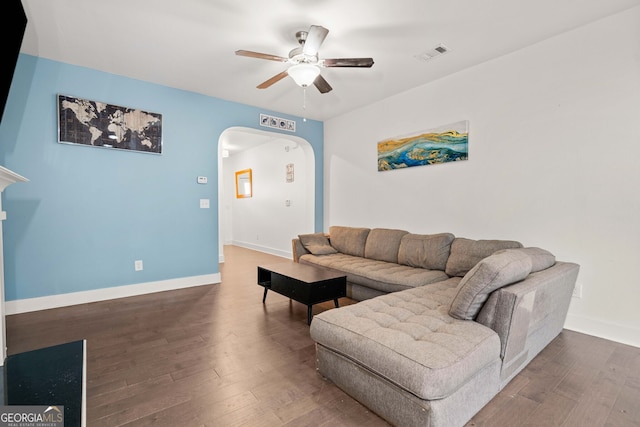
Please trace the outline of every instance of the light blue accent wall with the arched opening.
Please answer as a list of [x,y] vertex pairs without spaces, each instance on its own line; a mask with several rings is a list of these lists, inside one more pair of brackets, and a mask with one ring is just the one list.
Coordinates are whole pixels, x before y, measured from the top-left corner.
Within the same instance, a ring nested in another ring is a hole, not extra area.
[[[163,153],[58,143],[58,94],[162,114]],[[21,54],[0,126],[0,165],[29,179],[2,196],[6,300],[218,273],[218,138],[267,130],[260,113],[313,147],[322,230],[322,122]]]

